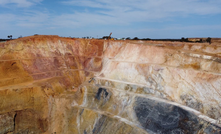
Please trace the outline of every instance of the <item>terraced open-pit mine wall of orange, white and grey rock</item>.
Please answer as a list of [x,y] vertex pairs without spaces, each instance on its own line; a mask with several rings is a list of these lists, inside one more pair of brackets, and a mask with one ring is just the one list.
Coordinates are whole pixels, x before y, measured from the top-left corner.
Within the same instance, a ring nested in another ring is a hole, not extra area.
[[221,44],[0,43],[0,134],[220,134]]

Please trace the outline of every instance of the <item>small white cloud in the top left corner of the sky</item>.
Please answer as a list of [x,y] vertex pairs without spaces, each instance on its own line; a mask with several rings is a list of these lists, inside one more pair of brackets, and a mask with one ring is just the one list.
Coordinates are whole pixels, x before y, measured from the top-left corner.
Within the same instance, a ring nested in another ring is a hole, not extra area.
[[7,7],[9,4],[15,4],[17,7],[30,7],[41,1],[43,0],[0,0],[0,6]]

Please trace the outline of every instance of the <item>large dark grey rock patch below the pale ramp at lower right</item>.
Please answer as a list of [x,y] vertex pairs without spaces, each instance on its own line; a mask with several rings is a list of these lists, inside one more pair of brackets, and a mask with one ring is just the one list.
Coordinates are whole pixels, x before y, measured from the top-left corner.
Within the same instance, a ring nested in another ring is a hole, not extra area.
[[[161,134],[220,133],[221,128],[209,124],[180,107],[147,98],[136,97],[134,111],[140,124],[147,130]],[[207,125],[205,125],[207,124]]]

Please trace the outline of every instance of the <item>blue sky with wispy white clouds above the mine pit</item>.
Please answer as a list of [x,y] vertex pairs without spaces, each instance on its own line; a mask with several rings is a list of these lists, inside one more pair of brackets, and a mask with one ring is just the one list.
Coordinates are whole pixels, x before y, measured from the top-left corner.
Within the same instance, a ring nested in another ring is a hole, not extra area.
[[0,0],[0,38],[221,37],[221,0]]

